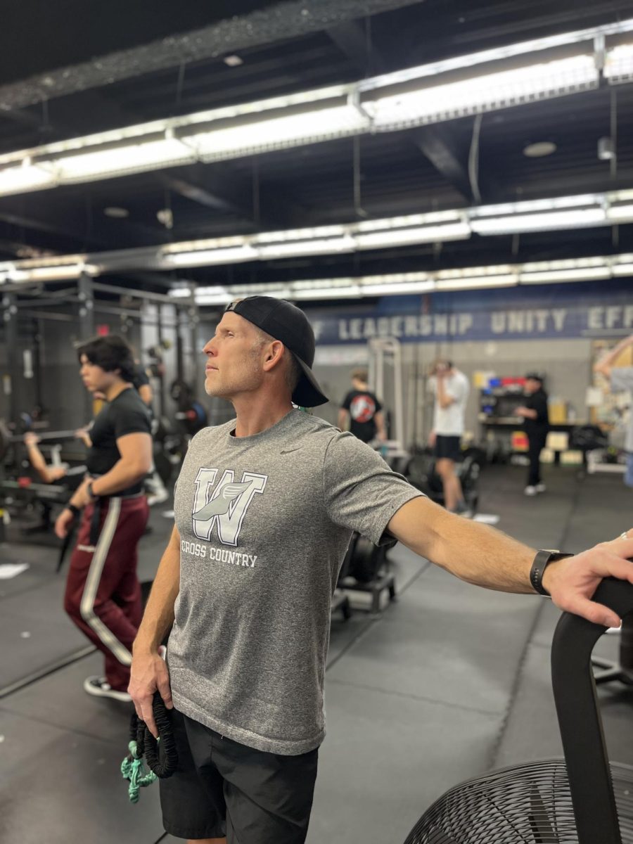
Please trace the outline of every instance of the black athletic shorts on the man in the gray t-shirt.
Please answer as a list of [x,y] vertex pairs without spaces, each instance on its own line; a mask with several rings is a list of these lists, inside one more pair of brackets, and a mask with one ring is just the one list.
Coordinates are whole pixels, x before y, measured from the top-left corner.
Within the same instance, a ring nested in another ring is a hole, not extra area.
[[227,844],[303,844],[317,779],[318,748],[264,753],[172,710],[175,773],[160,780],[165,830]]

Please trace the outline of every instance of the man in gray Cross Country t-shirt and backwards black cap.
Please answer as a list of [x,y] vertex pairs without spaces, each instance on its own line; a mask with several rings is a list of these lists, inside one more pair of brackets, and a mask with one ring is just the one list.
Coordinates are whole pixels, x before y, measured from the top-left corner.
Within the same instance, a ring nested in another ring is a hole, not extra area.
[[293,408],[327,401],[314,351],[303,312],[268,296],[232,303],[204,347],[205,389],[235,419],[189,446],[129,686],[154,735],[155,690],[172,709],[178,767],[160,801],[165,830],[190,841],[305,841],[330,600],[353,531],[398,539],[479,586],[549,593],[607,626],[619,619],[590,600],[598,582],[633,582],[633,538],[571,560],[537,553],[447,512],[369,446]]

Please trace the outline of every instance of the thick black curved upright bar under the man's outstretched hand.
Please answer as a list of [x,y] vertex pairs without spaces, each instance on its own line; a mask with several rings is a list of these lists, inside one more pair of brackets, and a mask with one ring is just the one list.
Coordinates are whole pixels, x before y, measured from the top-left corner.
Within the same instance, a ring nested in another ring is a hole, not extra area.
[[[622,617],[633,611],[633,584],[605,579],[593,599]],[[622,844],[591,668],[593,646],[605,629],[564,613],[552,641],[552,687],[578,844]]]

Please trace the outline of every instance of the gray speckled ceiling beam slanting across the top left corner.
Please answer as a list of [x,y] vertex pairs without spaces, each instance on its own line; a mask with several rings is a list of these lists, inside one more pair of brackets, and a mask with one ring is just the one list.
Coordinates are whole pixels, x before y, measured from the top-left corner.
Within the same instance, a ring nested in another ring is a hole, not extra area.
[[217,24],[172,35],[90,62],[58,68],[0,86],[0,111],[32,106],[77,94],[145,73],[173,68],[182,62],[201,62],[246,47],[270,44],[326,30],[345,20],[413,6],[420,0],[289,0],[272,7],[235,15]]

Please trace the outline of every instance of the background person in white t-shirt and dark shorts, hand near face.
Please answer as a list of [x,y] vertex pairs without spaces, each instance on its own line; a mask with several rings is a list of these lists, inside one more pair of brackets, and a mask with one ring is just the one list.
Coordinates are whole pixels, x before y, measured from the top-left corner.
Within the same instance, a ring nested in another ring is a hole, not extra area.
[[452,513],[466,516],[469,515],[468,506],[463,500],[462,484],[455,473],[455,463],[461,453],[464,416],[470,392],[468,378],[450,360],[437,360],[429,388],[436,397],[429,445],[434,449],[436,472],[441,477],[444,506]]

